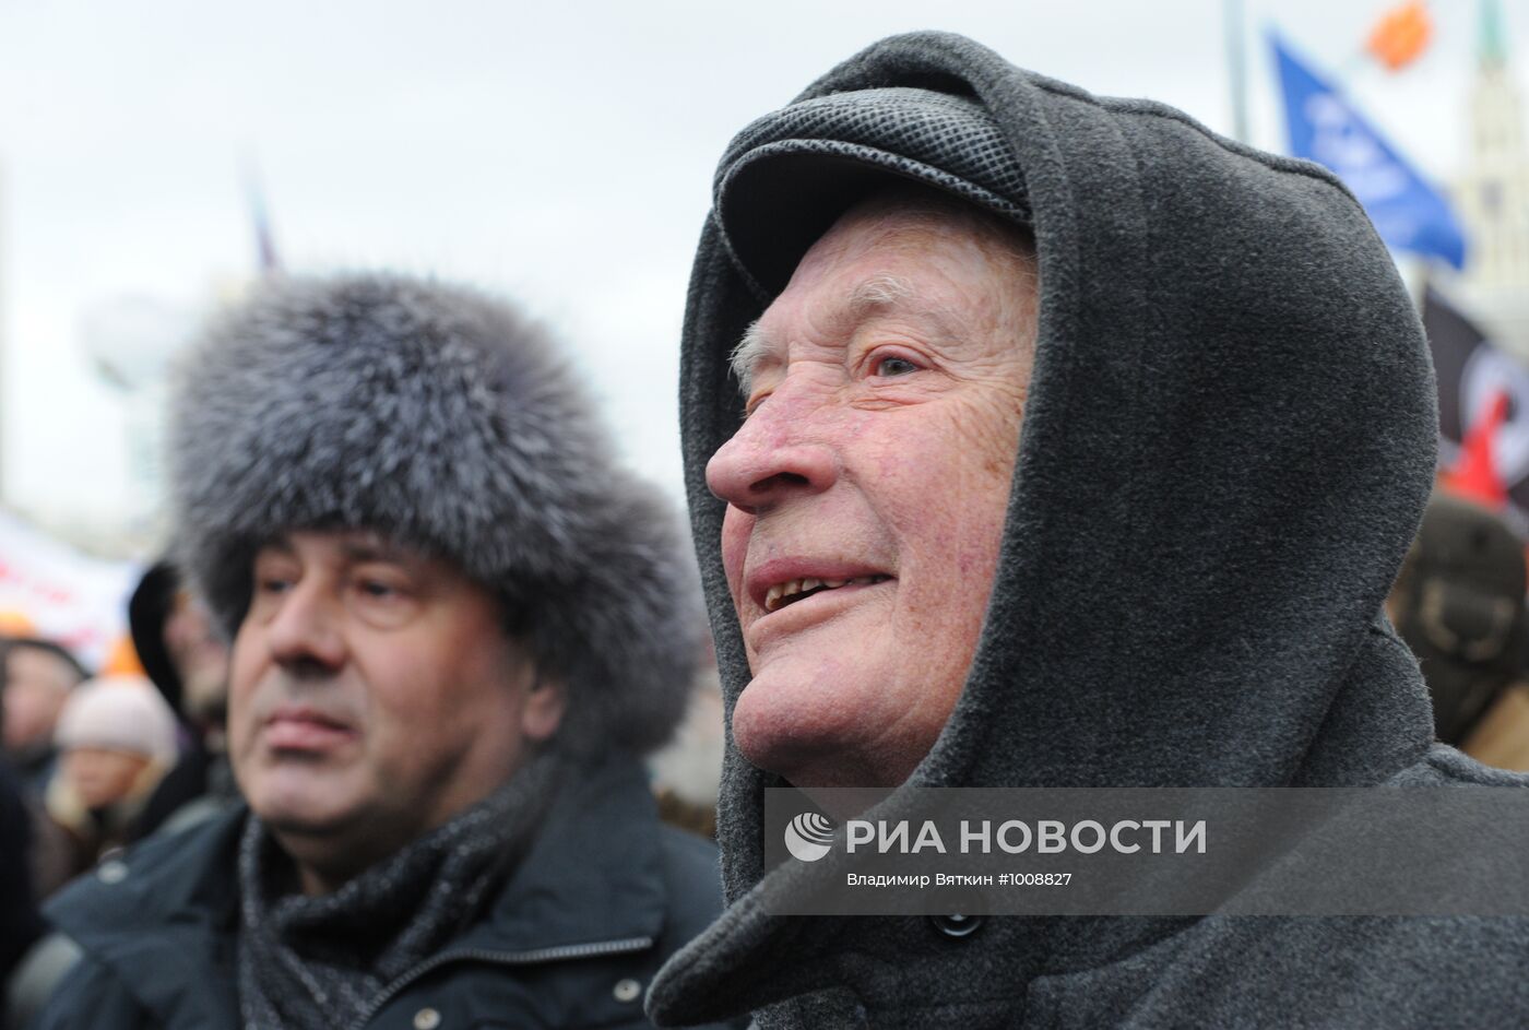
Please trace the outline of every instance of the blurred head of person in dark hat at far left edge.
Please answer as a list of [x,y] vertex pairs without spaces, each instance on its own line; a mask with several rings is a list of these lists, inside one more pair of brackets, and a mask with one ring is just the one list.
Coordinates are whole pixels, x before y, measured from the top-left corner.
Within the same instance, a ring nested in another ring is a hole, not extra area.
[[58,714],[87,675],[75,656],[52,640],[12,637],[0,643],[5,753],[32,796],[46,790],[54,772]]

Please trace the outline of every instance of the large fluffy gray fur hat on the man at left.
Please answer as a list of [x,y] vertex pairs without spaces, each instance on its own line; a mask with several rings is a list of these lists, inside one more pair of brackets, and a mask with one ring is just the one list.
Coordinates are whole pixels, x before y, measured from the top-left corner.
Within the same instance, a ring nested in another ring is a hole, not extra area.
[[258,287],[179,368],[170,483],[179,559],[229,637],[263,543],[372,529],[500,596],[567,683],[564,747],[641,753],[683,712],[702,622],[670,506],[502,301],[399,275]]

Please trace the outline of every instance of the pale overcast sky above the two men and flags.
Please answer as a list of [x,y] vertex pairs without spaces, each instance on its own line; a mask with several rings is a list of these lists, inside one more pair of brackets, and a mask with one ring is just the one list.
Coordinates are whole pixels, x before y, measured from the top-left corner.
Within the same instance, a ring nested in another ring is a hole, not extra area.
[[[1428,176],[1456,174],[1479,6],[1436,2],[1433,47],[1390,75],[1359,49],[1393,3],[1248,0],[1252,142],[1284,147],[1263,38],[1277,24]],[[867,43],[936,28],[1231,131],[1223,11],[0,0],[8,494],[81,521],[128,503],[133,416],[92,370],[87,326],[133,298],[196,315],[251,274],[252,156],[289,269],[433,272],[517,298],[566,341],[630,462],[677,495],[685,283],[739,128]],[[1509,55],[1526,83],[1518,15]]]

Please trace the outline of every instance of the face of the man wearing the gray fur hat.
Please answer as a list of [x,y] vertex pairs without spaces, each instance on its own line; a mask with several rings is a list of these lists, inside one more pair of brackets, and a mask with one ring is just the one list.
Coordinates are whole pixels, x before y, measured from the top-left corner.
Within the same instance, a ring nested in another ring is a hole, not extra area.
[[257,553],[229,755],[300,866],[344,879],[442,825],[561,712],[497,601],[453,565],[367,532],[294,532]]

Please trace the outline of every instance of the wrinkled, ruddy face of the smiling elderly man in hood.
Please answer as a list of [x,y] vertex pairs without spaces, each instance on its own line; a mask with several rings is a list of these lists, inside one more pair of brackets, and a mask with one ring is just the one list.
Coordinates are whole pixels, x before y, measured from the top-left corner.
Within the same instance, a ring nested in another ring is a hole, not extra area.
[[966,680],[1035,336],[1023,243],[943,205],[844,215],[751,329],[706,477],[754,679],[739,747],[803,787],[907,779]]

